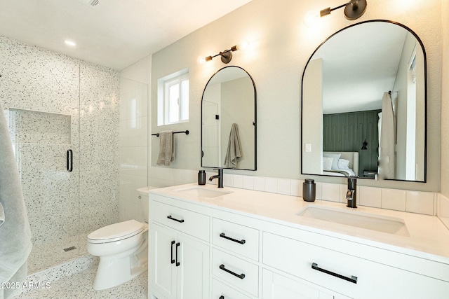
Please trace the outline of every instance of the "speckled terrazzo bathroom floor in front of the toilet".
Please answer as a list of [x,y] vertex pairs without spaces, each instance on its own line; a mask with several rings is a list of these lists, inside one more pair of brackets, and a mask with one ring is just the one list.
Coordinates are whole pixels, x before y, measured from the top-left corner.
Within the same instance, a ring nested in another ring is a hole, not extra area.
[[96,270],[95,263],[87,270],[52,281],[49,288],[36,288],[17,295],[14,299],[147,299],[147,272],[120,286],[95,291],[92,286]]

